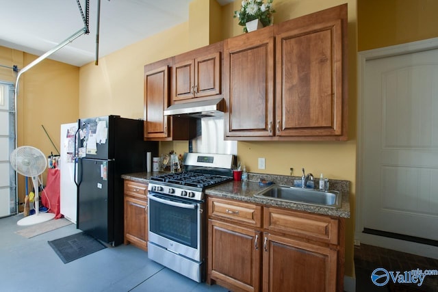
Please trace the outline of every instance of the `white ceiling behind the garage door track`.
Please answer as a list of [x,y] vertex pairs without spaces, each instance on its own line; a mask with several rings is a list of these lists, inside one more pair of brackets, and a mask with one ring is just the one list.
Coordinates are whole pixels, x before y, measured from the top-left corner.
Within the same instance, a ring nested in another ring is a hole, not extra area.
[[[101,0],[99,57],[188,21],[192,0]],[[207,1],[207,0],[205,0]],[[220,5],[233,0],[216,0]],[[85,0],[79,0],[85,13]],[[98,0],[90,0],[90,34],[49,59],[82,66],[96,55]],[[83,28],[77,0],[0,0],[0,45],[34,55],[53,49]]]

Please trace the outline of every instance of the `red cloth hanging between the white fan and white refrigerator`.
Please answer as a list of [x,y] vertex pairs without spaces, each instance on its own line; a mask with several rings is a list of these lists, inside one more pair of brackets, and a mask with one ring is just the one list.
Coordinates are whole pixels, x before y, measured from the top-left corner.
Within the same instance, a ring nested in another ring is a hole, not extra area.
[[42,194],[40,195],[42,204],[44,207],[50,207],[49,212],[55,213],[56,219],[62,217],[62,214],[60,213],[60,182],[61,174],[59,168],[49,168],[49,172],[47,172],[46,187],[44,187],[44,191],[42,191]]

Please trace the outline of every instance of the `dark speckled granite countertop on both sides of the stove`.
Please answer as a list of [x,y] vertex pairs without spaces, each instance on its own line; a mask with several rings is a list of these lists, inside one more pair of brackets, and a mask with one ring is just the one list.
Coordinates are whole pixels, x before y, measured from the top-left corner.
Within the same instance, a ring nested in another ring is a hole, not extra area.
[[[163,172],[136,172],[132,174],[123,174],[122,178],[136,181],[138,183],[149,183],[149,178],[151,178],[151,176],[162,173]],[[276,184],[279,185],[293,185],[293,181],[296,179],[300,179],[299,177],[249,173],[248,178],[250,181],[245,183],[241,181],[230,181],[228,183],[222,183],[214,187],[209,187],[205,190],[205,194],[207,196],[230,198],[234,200],[241,200],[244,202],[253,202],[255,204],[263,204],[272,207],[282,207],[334,217],[350,217],[350,182],[348,181],[330,180],[330,189],[342,192],[341,208],[330,208],[315,206],[311,204],[300,204],[294,202],[272,200],[269,198],[258,198],[254,196],[254,194],[257,194],[259,191],[266,188],[259,185],[258,181],[260,178],[264,178],[266,179],[266,181],[274,181]]]

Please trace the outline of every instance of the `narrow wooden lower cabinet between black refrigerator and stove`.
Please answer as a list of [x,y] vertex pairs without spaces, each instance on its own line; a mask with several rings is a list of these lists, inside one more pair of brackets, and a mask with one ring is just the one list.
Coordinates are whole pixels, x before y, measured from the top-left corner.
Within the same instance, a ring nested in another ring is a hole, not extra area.
[[125,181],[124,243],[131,243],[145,251],[148,250],[147,192],[147,185]]

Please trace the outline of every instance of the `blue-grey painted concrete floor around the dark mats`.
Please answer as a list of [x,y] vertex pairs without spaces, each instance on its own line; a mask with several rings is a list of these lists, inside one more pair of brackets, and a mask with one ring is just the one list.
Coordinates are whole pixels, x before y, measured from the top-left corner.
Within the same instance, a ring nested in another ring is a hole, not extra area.
[[227,291],[194,282],[149,260],[133,245],[109,247],[70,263],[62,263],[47,241],[80,232],[75,224],[27,239],[23,215],[0,218],[1,291]]

